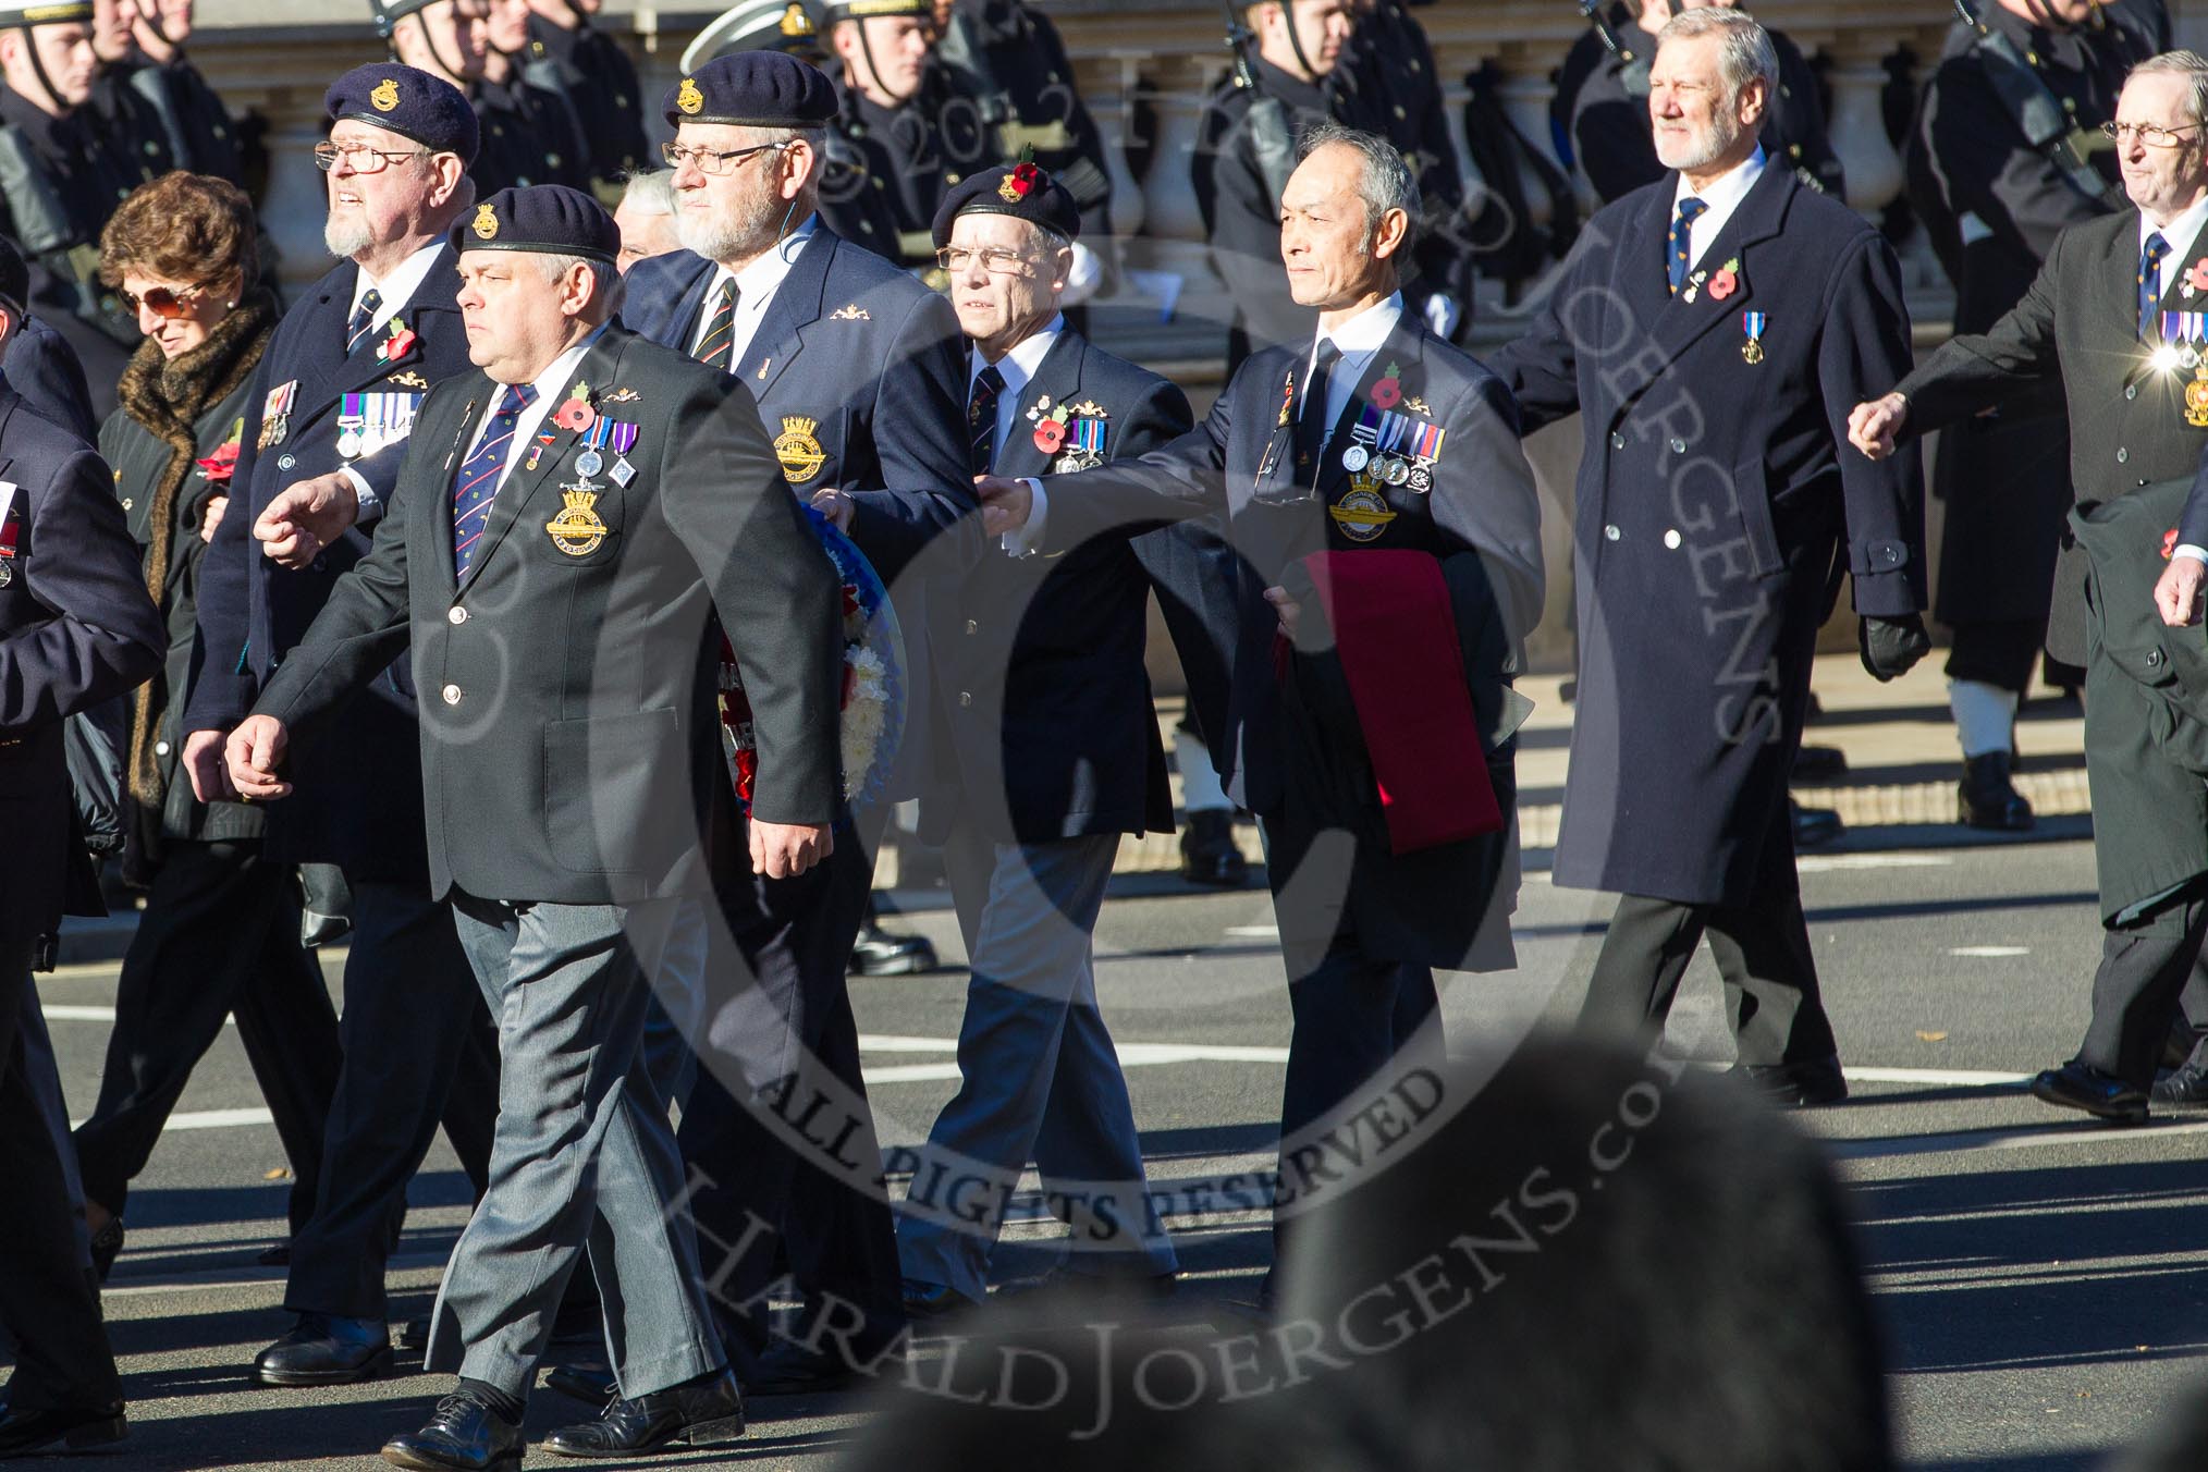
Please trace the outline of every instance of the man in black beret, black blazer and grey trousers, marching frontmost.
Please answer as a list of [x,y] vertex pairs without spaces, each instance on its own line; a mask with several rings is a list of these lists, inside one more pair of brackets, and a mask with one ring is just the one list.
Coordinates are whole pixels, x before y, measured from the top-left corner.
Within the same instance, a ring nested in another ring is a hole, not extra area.
[[[508,190],[450,245],[481,373],[431,393],[373,552],[227,748],[241,792],[280,799],[291,744],[322,739],[391,658],[411,649],[437,691],[431,885],[499,1017],[501,1110],[428,1340],[459,1384],[384,1459],[521,1461],[585,1245],[620,1395],[545,1450],[724,1446],[744,1401],[682,1212],[680,1059],[645,1046],[645,1020],[654,991],[700,982],[715,867],[749,852],[762,878],[802,878],[839,847],[839,578],[746,395],[614,320],[620,234],[592,196]],[[757,735],[746,817],[715,618]]]

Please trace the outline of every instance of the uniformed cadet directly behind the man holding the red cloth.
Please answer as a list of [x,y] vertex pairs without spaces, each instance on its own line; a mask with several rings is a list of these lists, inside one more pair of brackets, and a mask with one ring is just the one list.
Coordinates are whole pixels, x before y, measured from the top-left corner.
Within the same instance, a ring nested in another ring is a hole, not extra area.
[[1263,0],[1241,11],[1259,40],[1248,57],[1252,86],[1228,73],[1203,108],[1188,161],[1212,269],[1234,302],[1228,373],[1259,349],[1312,335],[1316,313],[1281,274],[1281,190],[1296,163],[1296,135],[1349,117],[1334,82],[1349,42],[1349,0]]

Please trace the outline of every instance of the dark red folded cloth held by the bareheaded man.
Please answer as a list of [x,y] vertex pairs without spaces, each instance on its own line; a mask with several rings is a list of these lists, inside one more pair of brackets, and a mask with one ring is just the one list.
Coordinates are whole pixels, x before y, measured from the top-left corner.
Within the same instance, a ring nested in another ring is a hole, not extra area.
[[1303,558],[1373,759],[1389,852],[1501,832],[1442,565],[1424,552]]

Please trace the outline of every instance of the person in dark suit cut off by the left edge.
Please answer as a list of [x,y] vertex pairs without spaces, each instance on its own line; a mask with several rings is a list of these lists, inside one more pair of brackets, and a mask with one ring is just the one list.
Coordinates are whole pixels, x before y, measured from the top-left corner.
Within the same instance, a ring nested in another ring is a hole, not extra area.
[[[0,342],[29,296],[24,260],[0,241]],[[71,900],[97,900],[84,854],[62,722],[126,693],[161,666],[166,631],[108,468],[68,430],[22,408],[0,382],[0,1331],[15,1375],[0,1401],[0,1459],[115,1450],[128,1437],[99,1293],[51,1114],[57,1079],[31,971],[53,967]],[[93,909],[97,914],[97,907]]]

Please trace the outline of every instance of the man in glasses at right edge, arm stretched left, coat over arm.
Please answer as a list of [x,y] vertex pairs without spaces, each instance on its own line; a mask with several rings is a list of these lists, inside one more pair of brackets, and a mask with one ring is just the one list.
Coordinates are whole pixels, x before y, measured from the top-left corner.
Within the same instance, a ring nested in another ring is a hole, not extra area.
[[[1859,404],[1848,430],[1864,455],[1883,459],[1897,441],[2060,388],[2080,508],[2073,525],[2146,486],[2193,481],[2208,450],[2199,327],[2208,309],[2204,99],[2208,57],[2193,51],[2166,51],[2131,68],[2109,135],[2135,207],[2058,234],[2011,311],[1983,333],[1950,340],[1886,397]],[[2177,567],[2199,550],[2166,552]],[[2102,1119],[2137,1121],[2146,1119],[2177,995],[2208,936],[2208,788],[2179,750],[2184,730],[2170,746],[2157,739],[2157,726],[2168,730],[2155,695],[2124,673],[2104,640],[2091,638],[2089,620],[2122,616],[2091,594],[2095,580],[2098,565],[2067,538],[2049,625],[2087,633],[2091,655],[2084,757],[2102,960],[2078,1057],[2040,1073],[2031,1092]]]

